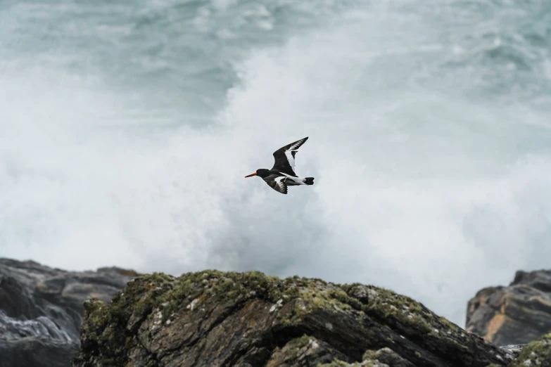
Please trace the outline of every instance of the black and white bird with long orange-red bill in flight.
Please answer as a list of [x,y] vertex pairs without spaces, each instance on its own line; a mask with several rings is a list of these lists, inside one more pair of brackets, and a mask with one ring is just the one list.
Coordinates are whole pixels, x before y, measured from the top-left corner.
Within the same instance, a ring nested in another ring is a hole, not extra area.
[[245,177],[259,176],[271,188],[283,194],[287,193],[287,186],[313,185],[314,177],[298,177],[294,170],[296,152],[307,140],[308,136],[279,148],[274,152],[275,163],[272,169],[260,168]]

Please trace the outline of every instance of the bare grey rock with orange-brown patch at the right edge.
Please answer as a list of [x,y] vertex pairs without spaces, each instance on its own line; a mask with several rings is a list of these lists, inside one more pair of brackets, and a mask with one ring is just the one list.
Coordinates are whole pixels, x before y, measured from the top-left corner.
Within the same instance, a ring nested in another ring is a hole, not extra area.
[[496,345],[526,344],[551,330],[551,271],[517,271],[508,287],[476,293],[466,329]]

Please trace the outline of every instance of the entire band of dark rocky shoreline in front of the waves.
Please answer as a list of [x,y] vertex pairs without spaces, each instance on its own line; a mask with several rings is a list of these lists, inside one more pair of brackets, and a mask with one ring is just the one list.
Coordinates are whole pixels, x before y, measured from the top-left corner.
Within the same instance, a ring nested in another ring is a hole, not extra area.
[[550,273],[481,290],[464,330],[374,285],[0,259],[0,367],[551,366]]

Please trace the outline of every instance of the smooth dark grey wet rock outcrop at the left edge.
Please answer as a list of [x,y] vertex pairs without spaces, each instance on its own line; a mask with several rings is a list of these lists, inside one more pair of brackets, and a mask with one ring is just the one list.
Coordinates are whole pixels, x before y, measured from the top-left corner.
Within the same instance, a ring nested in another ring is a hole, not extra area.
[[110,302],[137,276],[102,268],[70,272],[0,259],[0,367],[68,367],[80,346],[84,300]]

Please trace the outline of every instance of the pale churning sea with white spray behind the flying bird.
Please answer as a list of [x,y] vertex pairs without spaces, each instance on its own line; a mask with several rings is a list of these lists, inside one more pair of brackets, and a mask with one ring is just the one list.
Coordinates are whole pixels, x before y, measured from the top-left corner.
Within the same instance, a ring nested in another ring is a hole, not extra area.
[[[5,0],[0,256],[467,300],[551,267],[545,0]],[[280,195],[258,178],[309,136]]]

